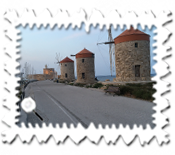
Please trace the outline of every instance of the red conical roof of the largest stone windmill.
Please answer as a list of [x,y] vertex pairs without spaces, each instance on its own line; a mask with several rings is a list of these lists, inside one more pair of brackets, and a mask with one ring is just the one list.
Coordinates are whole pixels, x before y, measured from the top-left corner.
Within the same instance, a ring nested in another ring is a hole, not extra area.
[[129,30],[125,30],[123,33],[117,36],[114,39],[114,42],[115,44],[117,44],[121,42],[134,41],[134,40],[148,40],[149,41],[149,35],[138,29],[134,29],[131,26]]

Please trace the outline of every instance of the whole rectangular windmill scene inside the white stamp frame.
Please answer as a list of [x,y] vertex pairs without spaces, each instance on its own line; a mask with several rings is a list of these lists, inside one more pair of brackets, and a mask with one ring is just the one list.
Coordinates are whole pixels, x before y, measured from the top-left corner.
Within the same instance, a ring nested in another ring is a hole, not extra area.
[[97,26],[89,33],[83,24],[81,29],[17,29],[22,38],[19,126],[80,123],[88,128],[92,122],[96,127],[155,127],[154,25]]

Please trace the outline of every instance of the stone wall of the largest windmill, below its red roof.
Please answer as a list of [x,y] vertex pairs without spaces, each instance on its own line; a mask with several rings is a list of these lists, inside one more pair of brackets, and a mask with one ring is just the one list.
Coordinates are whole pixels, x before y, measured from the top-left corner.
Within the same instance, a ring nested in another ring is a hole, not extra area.
[[[140,65],[140,77],[135,77],[135,65]],[[150,42],[139,40],[116,44],[115,67],[115,82],[150,81]]]

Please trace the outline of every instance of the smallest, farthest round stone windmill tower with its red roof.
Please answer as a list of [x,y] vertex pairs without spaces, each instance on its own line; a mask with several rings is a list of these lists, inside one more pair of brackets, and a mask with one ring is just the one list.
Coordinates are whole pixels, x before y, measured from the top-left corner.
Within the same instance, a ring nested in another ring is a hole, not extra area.
[[75,80],[74,61],[66,57],[62,61],[60,61],[60,63],[61,63],[61,79],[68,81]]

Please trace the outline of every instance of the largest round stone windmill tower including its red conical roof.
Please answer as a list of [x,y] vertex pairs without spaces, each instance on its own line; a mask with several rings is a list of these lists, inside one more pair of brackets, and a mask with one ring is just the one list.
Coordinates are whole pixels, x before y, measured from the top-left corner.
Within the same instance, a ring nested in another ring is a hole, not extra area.
[[149,37],[131,26],[114,39],[115,82],[150,81]]

